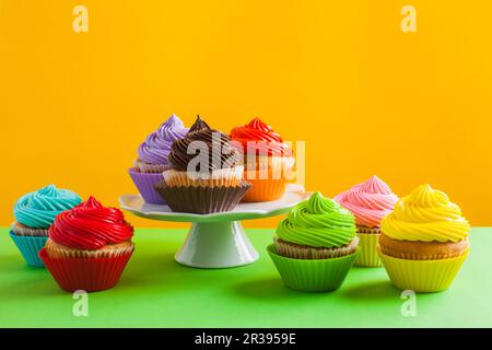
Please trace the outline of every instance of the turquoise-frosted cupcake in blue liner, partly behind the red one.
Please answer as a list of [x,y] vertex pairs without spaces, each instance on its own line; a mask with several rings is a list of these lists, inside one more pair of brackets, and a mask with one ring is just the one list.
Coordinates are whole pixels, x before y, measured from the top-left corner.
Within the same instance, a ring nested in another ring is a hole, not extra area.
[[48,238],[48,228],[56,215],[81,201],[77,194],[49,185],[24,195],[15,202],[15,222],[10,236],[28,265],[43,266],[38,253]]

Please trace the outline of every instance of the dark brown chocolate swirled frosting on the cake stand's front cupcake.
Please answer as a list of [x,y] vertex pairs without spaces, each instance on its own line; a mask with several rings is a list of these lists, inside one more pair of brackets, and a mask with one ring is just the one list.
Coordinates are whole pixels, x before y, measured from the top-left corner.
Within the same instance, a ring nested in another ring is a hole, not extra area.
[[[168,160],[173,168],[186,172],[188,164],[197,156],[200,163],[191,171],[200,173],[230,168],[239,163],[238,151],[232,147],[229,136],[211,129],[200,116],[188,133],[173,143]],[[202,165],[204,168],[201,168]]]

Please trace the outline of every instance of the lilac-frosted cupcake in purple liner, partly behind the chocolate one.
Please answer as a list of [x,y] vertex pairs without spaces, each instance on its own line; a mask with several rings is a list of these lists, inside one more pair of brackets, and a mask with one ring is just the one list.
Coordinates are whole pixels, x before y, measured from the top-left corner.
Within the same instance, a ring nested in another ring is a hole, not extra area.
[[128,172],[145,202],[165,205],[154,189],[154,184],[162,180],[162,173],[169,167],[167,156],[174,141],[185,137],[188,129],[174,114],[162,124],[157,131],[150,133],[138,149],[134,166]]

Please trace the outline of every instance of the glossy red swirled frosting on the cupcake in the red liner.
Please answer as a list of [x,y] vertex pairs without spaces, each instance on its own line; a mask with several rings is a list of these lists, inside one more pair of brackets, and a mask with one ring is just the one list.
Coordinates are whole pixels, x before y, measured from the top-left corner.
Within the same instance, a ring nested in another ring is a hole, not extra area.
[[99,249],[108,244],[129,241],[133,228],[121,210],[103,207],[94,197],[60,213],[49,228],[49,237],[74,249]]

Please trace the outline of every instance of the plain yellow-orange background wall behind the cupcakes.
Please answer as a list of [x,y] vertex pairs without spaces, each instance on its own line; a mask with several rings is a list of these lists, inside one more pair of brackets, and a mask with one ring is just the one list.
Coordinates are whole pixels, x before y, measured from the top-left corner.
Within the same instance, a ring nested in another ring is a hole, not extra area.
[[[408,3],[418,33],[400,30]],[[72,30],[77,4],[89,33]],[[479,0],[0,0],[0,224],[49,183],[116,206],[136,191],[138,144],[176,113],[225,131],[259,116],[305,140],[308,189],[430,183],[491,225],[491,13]]]

